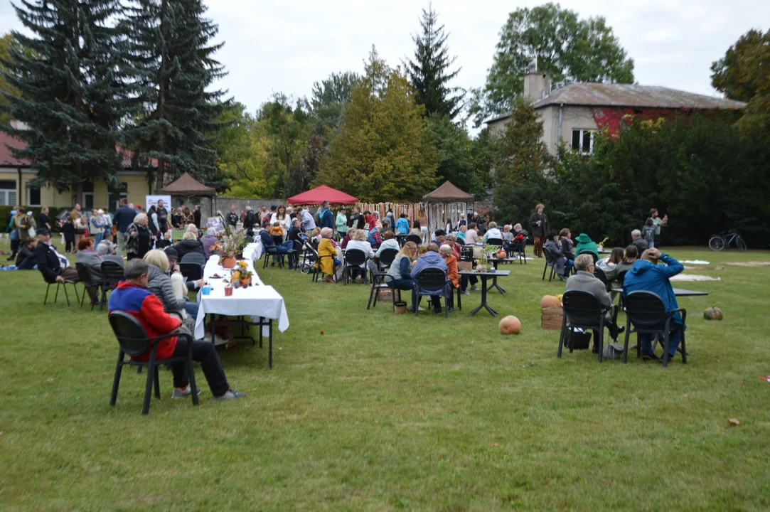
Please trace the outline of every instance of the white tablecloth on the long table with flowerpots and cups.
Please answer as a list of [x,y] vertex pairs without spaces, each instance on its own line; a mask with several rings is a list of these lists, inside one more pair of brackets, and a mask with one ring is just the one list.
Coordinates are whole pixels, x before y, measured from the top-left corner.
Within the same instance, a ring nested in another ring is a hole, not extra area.
[[[283,303],[283,297],[276,292],[273,286],[266,286],[262,279],[254,272],[254,267],[248,259],[249,270],[254,275],[252,277],[253,286],[248,288],[233,289],[232,296],[225,296],[225,285],[223,278],[216,279],[213,274],[229,277],[230,269],[223,269],[219,266],[219,256],[213,255],[206,262],[203,268],[203,279],[209,283],[213,289],[209,295],[203,295],[202,291],[198,293],[198,318],[195,324],[196,340],[203,338],[206,331],[205,319],[207,314],[218,314],[227,316],[251,316],[257,320],[259,316],[278,320],[278,329],[283,333],[289,328],[289,316],[286,314],[286,305]],[[263,328],[266,334],[266,327]]]

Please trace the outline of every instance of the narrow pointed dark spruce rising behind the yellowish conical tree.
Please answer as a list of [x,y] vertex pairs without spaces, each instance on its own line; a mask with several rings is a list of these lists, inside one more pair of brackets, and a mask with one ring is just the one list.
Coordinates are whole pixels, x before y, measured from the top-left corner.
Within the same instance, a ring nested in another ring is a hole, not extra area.
[[427,11],[423,9],[420,27],[422,35],[412,37],[417,45],[414,60],[405,62],[404,67],[417,93],[417,103],[425,105],[426,115],[447,115],[452,120],[460,112],[463,95],[454,95],[460,88],[447,85],[460,72],[448,71],[457,59],[449,56],[449,34],[444,32],[444,25],[438,25],[438,14],[432,5],[428,5]]

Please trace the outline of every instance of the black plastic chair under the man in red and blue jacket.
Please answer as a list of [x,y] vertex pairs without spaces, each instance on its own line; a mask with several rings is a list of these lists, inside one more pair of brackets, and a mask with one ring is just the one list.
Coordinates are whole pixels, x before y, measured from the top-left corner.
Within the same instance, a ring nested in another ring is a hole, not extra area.
[[[192,404],[198,405],[198,393],[195,383],[195,373],[192,368],[192,336],[187,333],[169,333],[163,336],[149,338],[139,320],[125,311],[113,311],[109,313],[109,325],[115,338],[118,340],[120,349],[118,351],[118,364],[115,366],[115,378],[112,380],[112,394],[109,397],[109,405],[114,406],[118,400],[118,387],[120,385],[120,376],[123,366],[139,366],[147,369],[147,382],[145,385],[144,405],[142,414],[149,413],[149,403],[152,395],[153,383],[155,384],[155,397],[160,398],[160,380],[158,378],[158,366],[166,363],[176,363],[182,361],[187,364],[187,374],[189,375],[189,386],[192,390]],[[168,359],[156,360],[156,353],[162,340],[167,338],[183,338],[187,340],[187,353],[184,356],[169,357]],[[149,360],[135,361],[125,360],[126,356],[140,356],[149,350]]]

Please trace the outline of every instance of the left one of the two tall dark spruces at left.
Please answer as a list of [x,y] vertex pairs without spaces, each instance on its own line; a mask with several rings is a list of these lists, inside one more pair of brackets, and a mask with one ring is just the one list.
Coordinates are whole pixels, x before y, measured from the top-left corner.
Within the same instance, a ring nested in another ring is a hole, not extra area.
[[7,129],[27,143],[14,149],[32,161],[35,184],[72,189],[103,179],[120,186],[117,125],[127,112],[122,35],[112,18],[118,0],[36,0],[14,5],[22,25],[18,44],[2,62],[5,80],[20,95],[3,91],[8,115],[31,129]]

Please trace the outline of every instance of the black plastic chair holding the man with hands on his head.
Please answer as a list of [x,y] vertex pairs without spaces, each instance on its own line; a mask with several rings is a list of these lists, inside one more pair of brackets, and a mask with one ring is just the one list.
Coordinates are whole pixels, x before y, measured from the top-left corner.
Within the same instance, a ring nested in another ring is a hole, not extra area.
[[[666,310],[666,305],[655,293],[631,292],[623,299],[623,310],[626,313],[626,338],[623,345],[623,363],[628,360],[628,338],[631,332],[660,334],[663,336],[663,367],[668,366],[668,340],[671,337],[671,324],[674,313],[681,313],[681,326],[673,323],[675,329],[681,330],[681,362],[687,363],[687,347],[685,346],[685,323],[687,311],[684,308],[678,310]],[[631,327],[633,326],[633,329]],[[636,356],[641,357],[641,343],[636,343]]]

